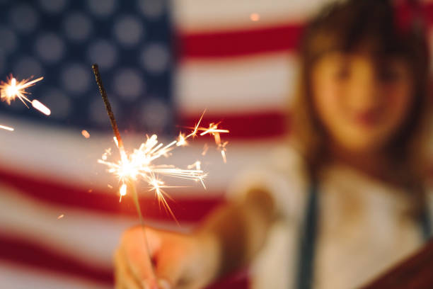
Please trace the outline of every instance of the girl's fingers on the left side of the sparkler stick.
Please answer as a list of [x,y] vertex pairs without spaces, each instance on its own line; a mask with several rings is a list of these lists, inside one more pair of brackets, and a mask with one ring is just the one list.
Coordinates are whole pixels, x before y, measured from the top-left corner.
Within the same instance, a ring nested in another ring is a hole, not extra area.
[[[152,237],[156,237],[152,234]],[[126,267],[139,284],[146,285],[146,289],[157,289],[154,269],[149,259],[147,240],[142,227],[135,227],[125,232],[120,248],[125,254]],[[150,251],[154,254],[154,250]]]

